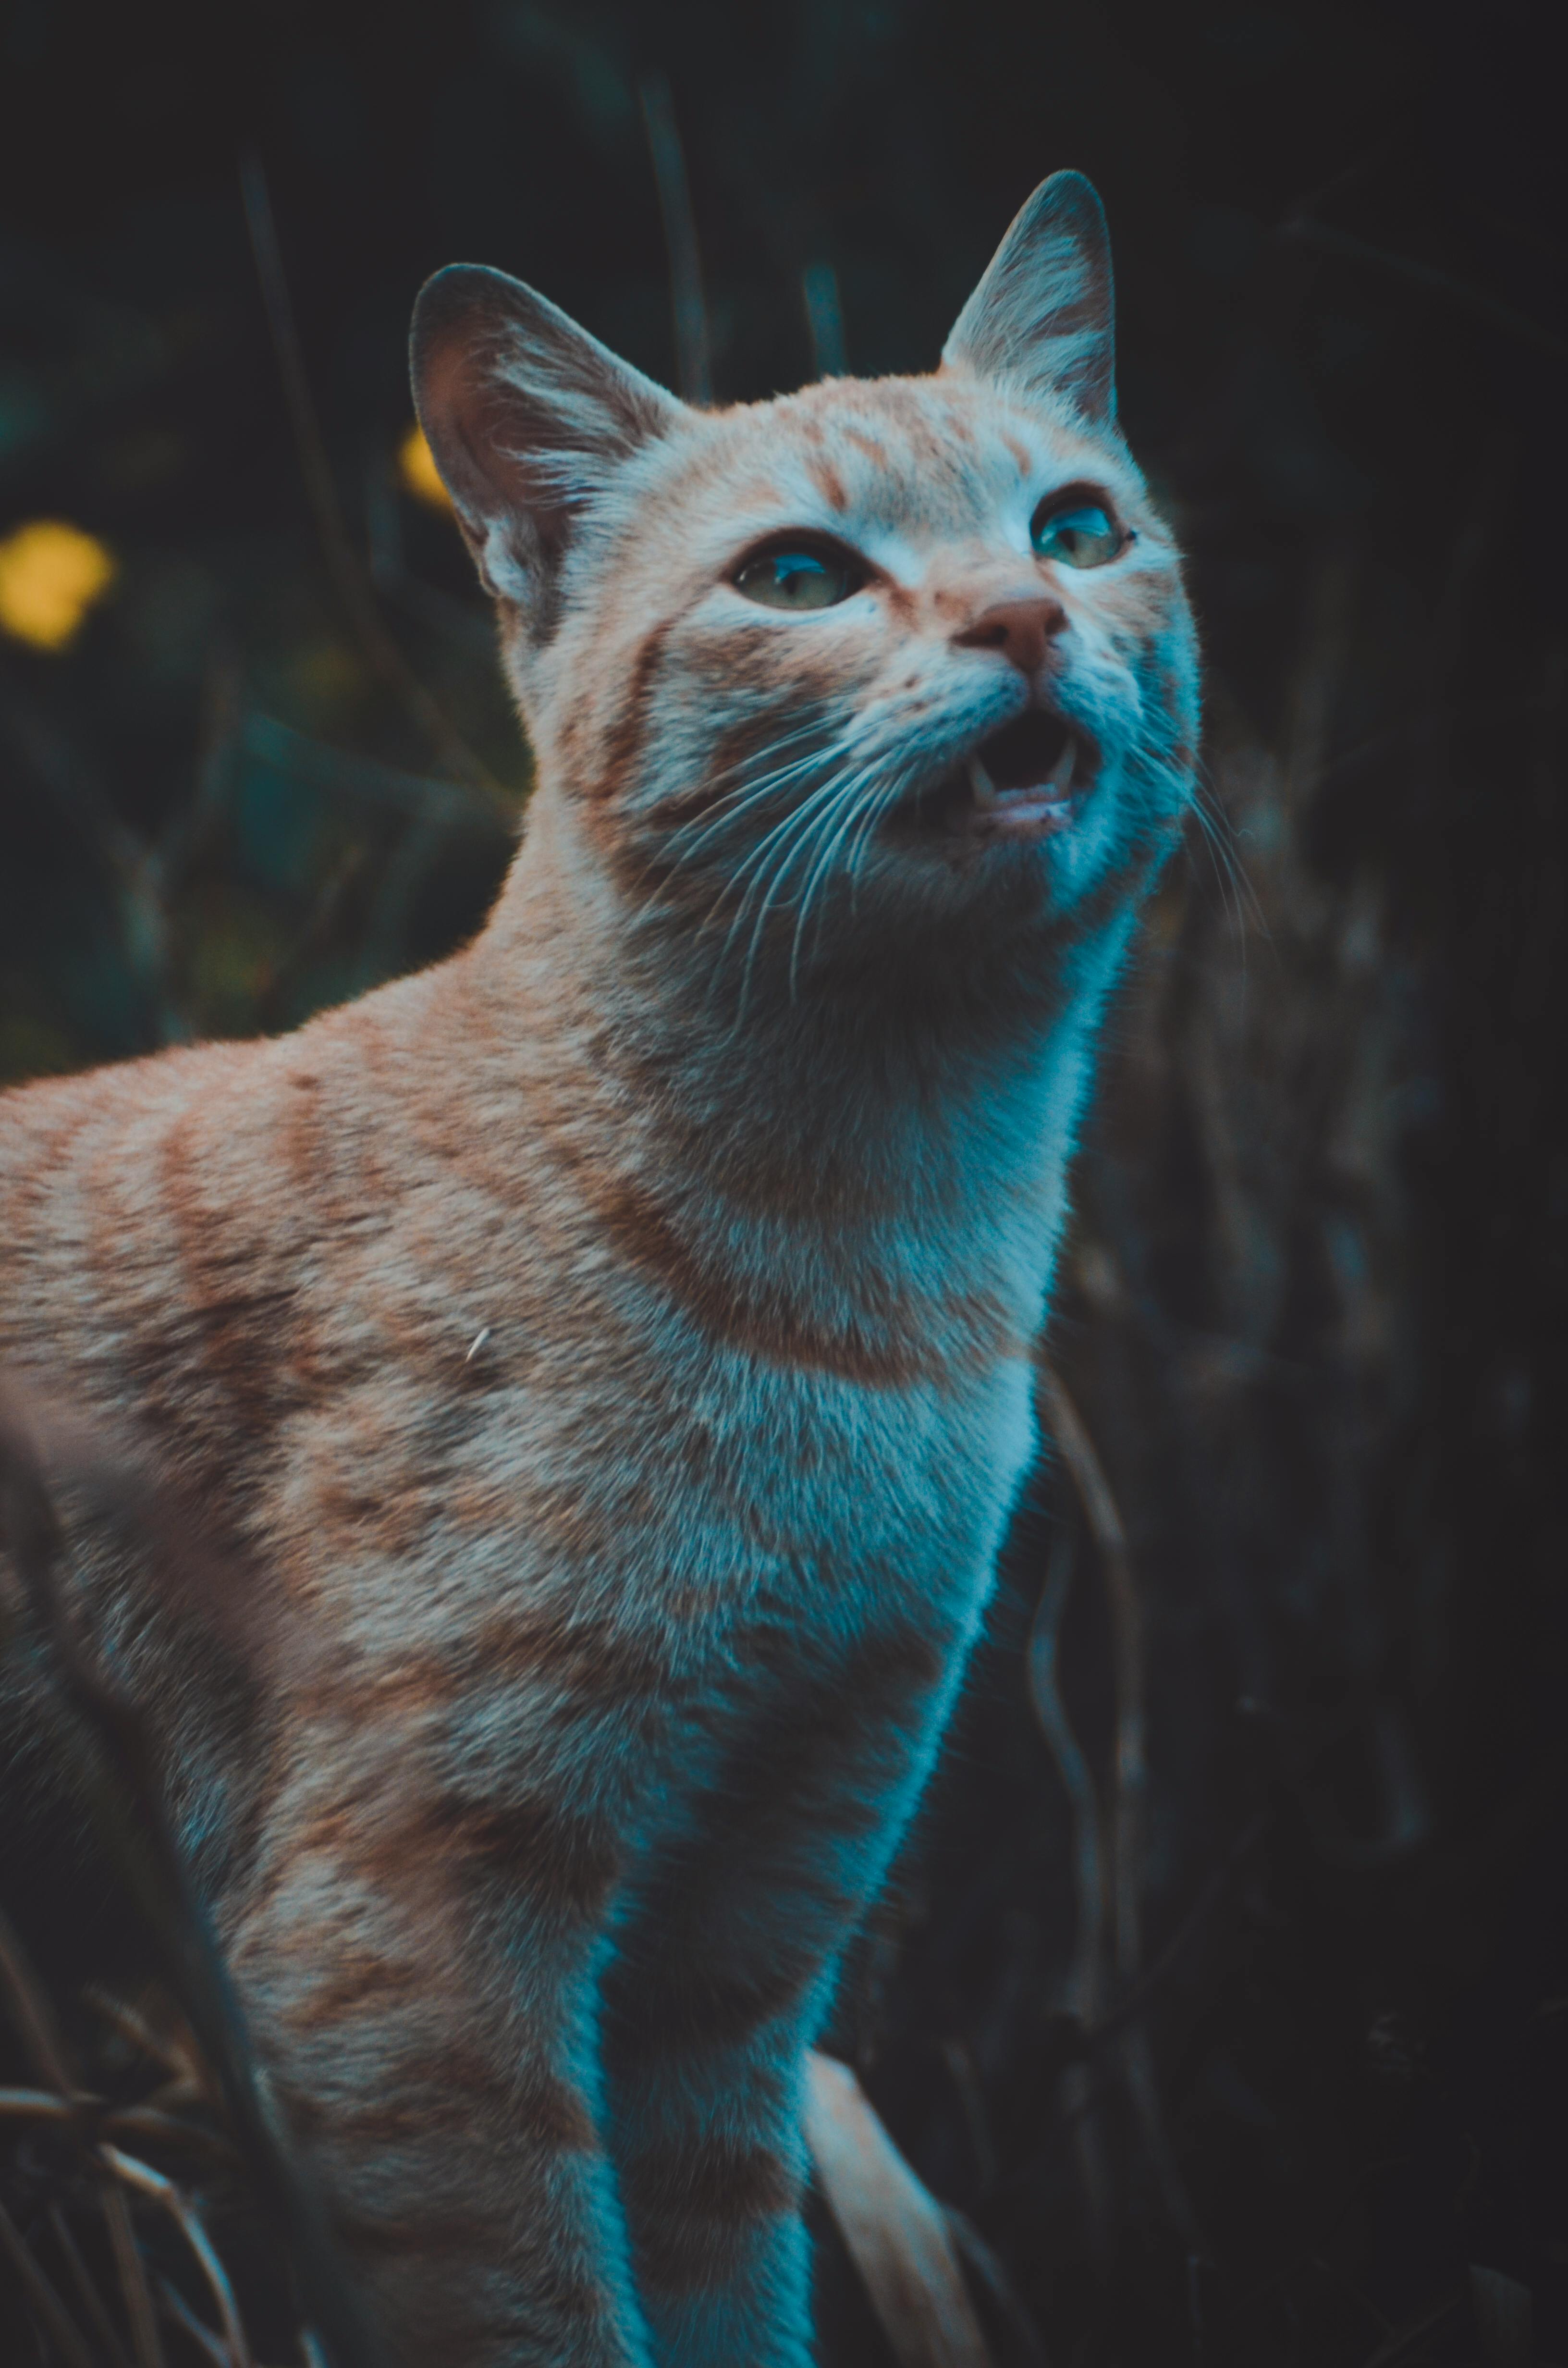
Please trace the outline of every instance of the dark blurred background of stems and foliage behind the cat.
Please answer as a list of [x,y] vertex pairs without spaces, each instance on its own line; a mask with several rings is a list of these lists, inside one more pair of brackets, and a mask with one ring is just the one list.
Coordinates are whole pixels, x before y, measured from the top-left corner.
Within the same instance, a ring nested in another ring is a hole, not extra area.
[[[528,755],[407,445],[429,270],[670,381],[673,126],[727,400],[928,367],[1042,173],[1106,199],[1206,826],[1080,1163],[1071,1452],[834,2029],[1000,2361],[1568,2359],[1547,14],[2,19],[7,1080],[481,921]],[[822,2318],[886,2359],[831,2233]]]

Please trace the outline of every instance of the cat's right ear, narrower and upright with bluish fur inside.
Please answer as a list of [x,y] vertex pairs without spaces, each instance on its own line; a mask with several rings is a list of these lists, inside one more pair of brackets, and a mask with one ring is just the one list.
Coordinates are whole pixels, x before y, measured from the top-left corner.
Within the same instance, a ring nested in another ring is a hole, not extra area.
[[952,324],[943,362],[1116,419],[1111,237],[1082,173],[1052,173],[1023,204]]

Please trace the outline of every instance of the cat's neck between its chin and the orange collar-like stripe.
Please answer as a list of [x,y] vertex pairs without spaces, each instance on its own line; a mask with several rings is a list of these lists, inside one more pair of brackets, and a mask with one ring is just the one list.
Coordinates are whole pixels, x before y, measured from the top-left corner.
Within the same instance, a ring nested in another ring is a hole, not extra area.
[[881,980],[862,999],[765,976],[737,1009],[711,992],[711,940],[628,928],[545,796],[469,961],[519,1056],[597,1106],[609,1158],[666,1201],[855,1255],[978,1243],[1054,1210],[1127,928],[1123,912],[1016,1009],[957,980],[943,999],[931,964],[910,995]]

